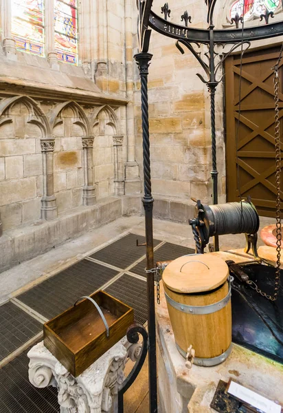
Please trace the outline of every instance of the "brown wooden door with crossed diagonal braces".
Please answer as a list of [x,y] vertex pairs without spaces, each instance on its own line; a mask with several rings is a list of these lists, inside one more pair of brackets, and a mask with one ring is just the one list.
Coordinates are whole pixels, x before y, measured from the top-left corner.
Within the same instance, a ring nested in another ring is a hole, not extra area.
[[[250,195],[258,213],[269,217],[275,216],[276,196],[275,103],[271,68],[278,60],[278,56],[278,48],[244,54],[240,118],[240,56],[230,56],[225,63],[227,201],[239,201],[240,195],[242,198]],[[283,136],[282,65],[283,59],[280,63],[281,136]],[[283,139],[281,140],[283,142]],[[283,143],[281,143],[281,150],[283,150]],[[281,198],[283,198],[282,191]]]

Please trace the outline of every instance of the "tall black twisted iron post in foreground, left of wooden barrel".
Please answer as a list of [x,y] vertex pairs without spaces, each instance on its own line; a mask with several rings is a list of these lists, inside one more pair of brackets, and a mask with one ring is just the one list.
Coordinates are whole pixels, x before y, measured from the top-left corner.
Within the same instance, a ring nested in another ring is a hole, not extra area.
[[[135,55],[141,77],[141,127],[144,157],[144,214],[146,224],[146,269],[153,270],[153,231],[152,209],[153,198],[150,180],[150,140],[148,123],[148,66],[152,54],[141,52]],[[157,412],[157,359],[156,359],[156,331],[155,331],[155,273],[147,273],[148,298],[148,383],[150,413]]]

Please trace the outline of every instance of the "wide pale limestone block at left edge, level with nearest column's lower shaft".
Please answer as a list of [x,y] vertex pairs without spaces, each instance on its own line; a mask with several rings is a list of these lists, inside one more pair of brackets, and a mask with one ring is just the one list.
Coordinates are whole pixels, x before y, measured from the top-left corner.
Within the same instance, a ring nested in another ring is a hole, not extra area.
[[12,204],[36,197],[36,177],[0,182],[0,205]]

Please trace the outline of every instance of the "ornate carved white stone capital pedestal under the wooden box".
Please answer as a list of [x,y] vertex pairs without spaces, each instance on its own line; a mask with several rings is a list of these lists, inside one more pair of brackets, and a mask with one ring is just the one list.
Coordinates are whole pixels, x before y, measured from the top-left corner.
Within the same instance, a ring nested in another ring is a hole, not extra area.
[[37,388],[52,385],[58,389],[61,413],[116,412],[117,390],[124,381],[126,361],[136,361],[140,348],[139,343],[123,339],[75,378],[41,341],[27,353],[29,379]]

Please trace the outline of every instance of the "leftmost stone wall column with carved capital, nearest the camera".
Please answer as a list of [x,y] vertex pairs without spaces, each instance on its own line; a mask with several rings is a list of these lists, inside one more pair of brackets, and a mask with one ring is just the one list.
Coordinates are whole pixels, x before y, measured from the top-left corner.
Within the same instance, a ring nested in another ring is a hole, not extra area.
[[41,218],[52,220],[57,218],[56,196],[54,195],[53,153],[55,139],[42,139],[43,153],[43,198],[41,199]]

